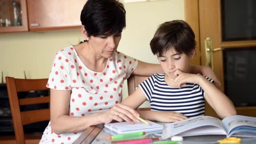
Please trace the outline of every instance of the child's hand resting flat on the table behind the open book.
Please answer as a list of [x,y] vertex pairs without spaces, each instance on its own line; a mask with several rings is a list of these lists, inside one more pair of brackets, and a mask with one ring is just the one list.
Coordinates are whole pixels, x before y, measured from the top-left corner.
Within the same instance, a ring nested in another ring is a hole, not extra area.
[[179,112],[159,112],[159,111],[154,111],[154,112],[155,112],[155,120],[159,122],[171,123],[171,122],[178,122],[181,120],[188,119],[188,117],[186,117],[185,115]]

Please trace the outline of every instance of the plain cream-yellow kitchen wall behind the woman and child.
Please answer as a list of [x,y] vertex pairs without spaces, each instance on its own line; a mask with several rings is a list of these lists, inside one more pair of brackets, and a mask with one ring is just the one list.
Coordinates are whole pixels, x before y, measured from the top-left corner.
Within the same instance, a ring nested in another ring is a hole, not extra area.
[[[141,61],[158,63],[150,51],[149,42],[159,24],[184,19],[184,1],[125,3],[125,9],[127,27],[118,51]],[[0,72],[3,71],[4,77],[24,78],[25,70],[27,78],[48,77],[55,53],[82,39],[80,29],[0,34]],[[125,84],[123,96],[127,95]]]

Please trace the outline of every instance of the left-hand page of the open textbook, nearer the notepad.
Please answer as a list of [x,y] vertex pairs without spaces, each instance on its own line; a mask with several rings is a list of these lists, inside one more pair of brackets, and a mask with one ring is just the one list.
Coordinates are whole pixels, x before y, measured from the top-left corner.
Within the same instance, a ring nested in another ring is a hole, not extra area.
[[[213,128],[215,127],[215,128]],[[189,132],[192,131],[192,132]],[[198,116],[192,117],[187,120],[182,120],[175,123],[165,124],[163,130],[163,139],[168,139],[175,135],[182,136],[197,136],[209,134],[222,134],[226,135],[221,120],[215,117]]]

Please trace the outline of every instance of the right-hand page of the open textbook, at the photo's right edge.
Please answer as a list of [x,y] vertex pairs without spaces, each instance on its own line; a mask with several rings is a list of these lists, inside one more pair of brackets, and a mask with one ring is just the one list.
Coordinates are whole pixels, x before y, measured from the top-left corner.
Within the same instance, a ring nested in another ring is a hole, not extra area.
[[233,115],[224,118],[222,123],[228,132],[228,137],[231,135],[256,137],[256,117]]

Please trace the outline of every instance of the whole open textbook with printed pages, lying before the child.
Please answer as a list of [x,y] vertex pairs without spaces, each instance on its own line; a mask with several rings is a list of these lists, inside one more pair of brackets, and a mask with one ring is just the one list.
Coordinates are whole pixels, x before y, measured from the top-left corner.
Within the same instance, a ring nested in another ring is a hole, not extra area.
[[256,117],[234,115],[222,121],[209,116],[197,116],[165,124],[162,139],[171,136],[226,135],[256,137]]

